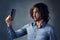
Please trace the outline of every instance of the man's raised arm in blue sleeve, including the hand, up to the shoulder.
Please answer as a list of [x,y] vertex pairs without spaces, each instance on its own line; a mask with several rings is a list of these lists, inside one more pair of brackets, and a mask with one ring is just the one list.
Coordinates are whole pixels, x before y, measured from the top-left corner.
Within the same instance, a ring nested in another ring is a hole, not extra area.
[[6,20],[5,20],[6,24],[7,24],[7,31],[9,34],[9,38],[14,39],[14,38],[18,38],[21,37],[25,34],[27,34],[27,30],[25,28],[25,26],[19,30],[17,30],[16,32],[13,30],[12,28],[12,20],[11,20],[11,16],[9,15]]

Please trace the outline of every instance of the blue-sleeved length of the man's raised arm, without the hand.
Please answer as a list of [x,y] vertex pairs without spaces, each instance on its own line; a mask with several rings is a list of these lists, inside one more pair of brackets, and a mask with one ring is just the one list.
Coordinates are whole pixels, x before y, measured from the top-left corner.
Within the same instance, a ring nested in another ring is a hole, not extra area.
[[9,37],[11,37],[12,39],[15,39],[27,34],[27,31],[25,28],[19,29],[16,32],[13,30],[12,26],[8,27],[7,29],[8,29]]

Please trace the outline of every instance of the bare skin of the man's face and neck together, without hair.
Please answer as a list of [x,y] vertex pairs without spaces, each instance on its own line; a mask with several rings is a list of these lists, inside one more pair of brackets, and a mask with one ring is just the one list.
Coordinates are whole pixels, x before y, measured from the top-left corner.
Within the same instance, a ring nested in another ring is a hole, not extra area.
[[41,15],[38,13],[38,8],[34,8],[33,10],[33,19],[35,20],[35,23],[36,23],[36,26],[37,27],[40,27],[43,23],[43,19],[39,20],[39,21],[36,21],[38,20],[38,18],[40,17]]

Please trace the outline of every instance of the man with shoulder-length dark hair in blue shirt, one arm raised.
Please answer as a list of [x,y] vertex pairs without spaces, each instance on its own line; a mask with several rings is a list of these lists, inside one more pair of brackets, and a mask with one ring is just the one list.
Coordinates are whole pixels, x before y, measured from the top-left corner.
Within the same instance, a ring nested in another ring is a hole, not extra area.
[[11,16],[9,15],[6,18],[5,21],[11,39],[27,34],[27,40],[56,40],[54,29],[48,24],[49,11],[47,5],[44,3],[35,4],[30,10],[30,15],[34,22],[24,25],[17,31],[12,28]]

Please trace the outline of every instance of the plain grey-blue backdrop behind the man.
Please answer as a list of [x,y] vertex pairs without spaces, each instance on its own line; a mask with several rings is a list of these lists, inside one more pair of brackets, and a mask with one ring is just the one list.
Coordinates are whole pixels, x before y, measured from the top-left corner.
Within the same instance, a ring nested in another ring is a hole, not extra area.
[[[30,8],[38,2],[48,5],[50,11],[49,24],[56,30],[57,39],[60,40],[60,1],[59,0],[0,0],[0,40],[9,40],[5,18],[10,14],[11,9],[16,9],[13,21],[13,29],[17,30],[33,20],[30,17]],[[26,36],[14,40],[26,40]]]

